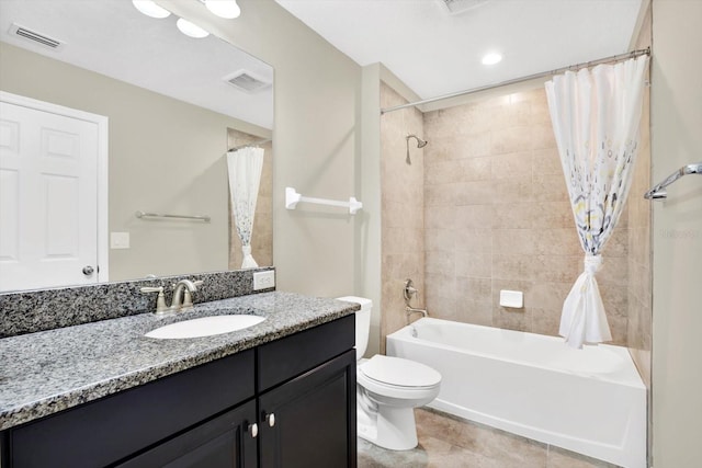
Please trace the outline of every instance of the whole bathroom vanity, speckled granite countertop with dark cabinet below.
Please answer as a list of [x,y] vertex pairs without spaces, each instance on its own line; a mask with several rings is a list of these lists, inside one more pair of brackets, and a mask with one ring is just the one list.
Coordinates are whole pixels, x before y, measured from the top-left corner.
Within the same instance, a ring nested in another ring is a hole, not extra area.
[[355,467],[355,308],[273,292],[186,312],[265,317],[220,335],[148,339],[146,313],[2,339],[1,466]]

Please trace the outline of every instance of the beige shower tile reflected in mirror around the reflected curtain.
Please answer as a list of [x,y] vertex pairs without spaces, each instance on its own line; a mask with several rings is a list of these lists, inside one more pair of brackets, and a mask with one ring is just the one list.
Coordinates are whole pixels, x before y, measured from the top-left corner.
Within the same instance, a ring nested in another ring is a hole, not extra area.
[[[248,145],[261,139],[263,138],[233,128],[227,132],[229,148]],[[261,170],[259,197],[256,202],[256,215],[253,216],[251,254],[259,266],[270,266],[273,264],[273,146],[271,142],[267,142],[260,147],[264,150],[263,169]],[[231,201],[229,201],[230,213]],[[237,235],[234,217],[229,216],[229,269],[240,269],[242,261],[241,240]]]

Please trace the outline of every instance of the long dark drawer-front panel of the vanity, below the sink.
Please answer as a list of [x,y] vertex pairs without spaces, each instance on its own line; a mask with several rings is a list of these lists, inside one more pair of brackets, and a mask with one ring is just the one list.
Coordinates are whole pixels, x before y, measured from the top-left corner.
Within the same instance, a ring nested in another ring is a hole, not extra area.
[[251,400],[254,375],[248,350],[10,429],[8,465],[111,466]]

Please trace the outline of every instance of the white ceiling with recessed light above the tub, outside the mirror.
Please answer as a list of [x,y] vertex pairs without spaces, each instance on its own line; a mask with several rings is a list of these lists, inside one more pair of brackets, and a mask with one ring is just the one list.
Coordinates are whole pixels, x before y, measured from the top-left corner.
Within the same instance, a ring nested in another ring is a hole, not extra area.
[[[361,66],[385,65],[421,99],[629,52],[641,7],[486,0],[451,14],[443,0],[275,1]],[[490,50],[502,61],[482,65]]]

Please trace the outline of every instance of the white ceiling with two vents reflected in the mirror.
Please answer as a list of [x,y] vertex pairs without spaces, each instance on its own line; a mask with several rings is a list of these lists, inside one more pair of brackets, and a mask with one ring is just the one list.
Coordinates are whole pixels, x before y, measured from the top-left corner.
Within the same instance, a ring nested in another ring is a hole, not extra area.
[[[272,83],[273,68],[212,35],[186,37],[177,20],[146,16],[129,0],[0,0],[0,41],[272,128],[273,87],[247,93],[223,78],[245,69]],[[54,50],[13,36],[13,22],[66,44]]]

